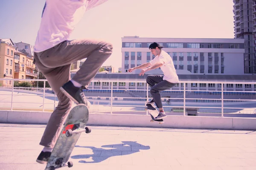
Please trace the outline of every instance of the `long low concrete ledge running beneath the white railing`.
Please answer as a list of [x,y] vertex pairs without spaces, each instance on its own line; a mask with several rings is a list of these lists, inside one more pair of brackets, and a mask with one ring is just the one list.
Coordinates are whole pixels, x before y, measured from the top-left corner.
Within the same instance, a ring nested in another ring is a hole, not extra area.
[[[50,112],[0,111],[0,122],[47,124]],[[149,115],[90,113],[88,125],[256,130],[256,118],[167,116],[163,124]]]

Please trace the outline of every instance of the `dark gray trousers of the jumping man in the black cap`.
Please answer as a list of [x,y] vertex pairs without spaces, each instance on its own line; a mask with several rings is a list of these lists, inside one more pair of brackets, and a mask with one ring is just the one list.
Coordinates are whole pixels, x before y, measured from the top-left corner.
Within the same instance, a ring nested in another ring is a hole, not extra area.
[[148,75],[147,83],[151,87],[150,94],[152,96],[151,102],[155,102],[157,108],[163,108],[160,91],[167,90],[176,85],[176,83],[171,83],[163,80],[163,75]]

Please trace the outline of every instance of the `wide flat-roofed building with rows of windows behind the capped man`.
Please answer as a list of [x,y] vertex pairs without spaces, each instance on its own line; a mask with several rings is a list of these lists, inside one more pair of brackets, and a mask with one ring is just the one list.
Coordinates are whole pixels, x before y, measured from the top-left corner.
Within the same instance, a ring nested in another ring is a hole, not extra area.
[[[122,72],[154,59],[152,42],[164,46],[177,70],[191,74],[244,74],[244,39],[122,38]],[[160,69],[160,68],[159,68]]]

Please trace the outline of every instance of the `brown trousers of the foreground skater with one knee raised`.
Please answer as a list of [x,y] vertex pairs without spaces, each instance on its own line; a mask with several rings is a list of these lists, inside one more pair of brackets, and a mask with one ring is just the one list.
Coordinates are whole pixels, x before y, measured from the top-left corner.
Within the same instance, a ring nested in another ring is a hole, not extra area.
[[58,106],[50,116],[40,142],[41,145],[54,147],[61,133],[61,126],[72,106],[71,100],[60,91],[60,87],[70,80],[71,63],[87,58],[73,77],[76,82],[87,86],[111,53],[112,45],[110,43],[72,40],[61,42],[46,51],[34,54],[35,65],[44,74],[58,97]]

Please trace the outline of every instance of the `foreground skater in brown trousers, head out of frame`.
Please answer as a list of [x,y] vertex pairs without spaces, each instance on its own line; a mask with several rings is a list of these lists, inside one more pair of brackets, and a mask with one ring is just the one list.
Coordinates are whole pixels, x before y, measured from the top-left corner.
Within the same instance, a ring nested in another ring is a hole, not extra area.
[[[87,105],[83,89],[87,88],[102,64],[110,57],[112,45],[96,40],[69,40],[84,12],[107,0],[46,0],[35,41],[34,63],[46,77],[58,97],[58,106],[50,116],[37,158],[47,163],[70,111],[72,101]],[[87,26],[91,26],[87,23]],[[70,79],[70,65],[86,58]]]

